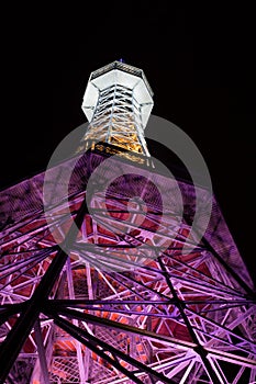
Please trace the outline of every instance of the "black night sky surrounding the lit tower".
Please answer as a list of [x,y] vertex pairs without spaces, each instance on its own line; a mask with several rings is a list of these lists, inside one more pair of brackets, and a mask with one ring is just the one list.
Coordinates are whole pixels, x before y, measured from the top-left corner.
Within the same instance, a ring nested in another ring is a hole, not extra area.
[[1,189],[45,169],[57,144],[86,121],[80,105],[90,72],[122,57],[144,69],[155,93],[153,113],[197,144],[253,271],[253,10],[111,4],[94,2],[90,10],[62,5],[58,12],[30,9],[31,14],[22,8],[5,15]]

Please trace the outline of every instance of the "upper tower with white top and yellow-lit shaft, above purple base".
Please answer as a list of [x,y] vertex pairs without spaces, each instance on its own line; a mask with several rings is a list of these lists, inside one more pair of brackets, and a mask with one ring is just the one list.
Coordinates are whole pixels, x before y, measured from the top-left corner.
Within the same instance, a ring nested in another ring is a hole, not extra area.
[[121,61],[98,69],[84,95],[82,110],[90,124],[79,150],[107,145],[109,153],[149,157],[144,129],[152,108],[153,92],[142,69]]

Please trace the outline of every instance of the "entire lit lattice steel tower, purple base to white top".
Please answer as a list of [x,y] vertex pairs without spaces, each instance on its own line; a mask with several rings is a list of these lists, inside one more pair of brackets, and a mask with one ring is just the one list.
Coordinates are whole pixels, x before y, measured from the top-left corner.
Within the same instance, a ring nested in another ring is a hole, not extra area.
[[0,383],[256,382],[252,280],[215,199],[152,166],[152,97],[92,72],[77,154],[0,192]]

